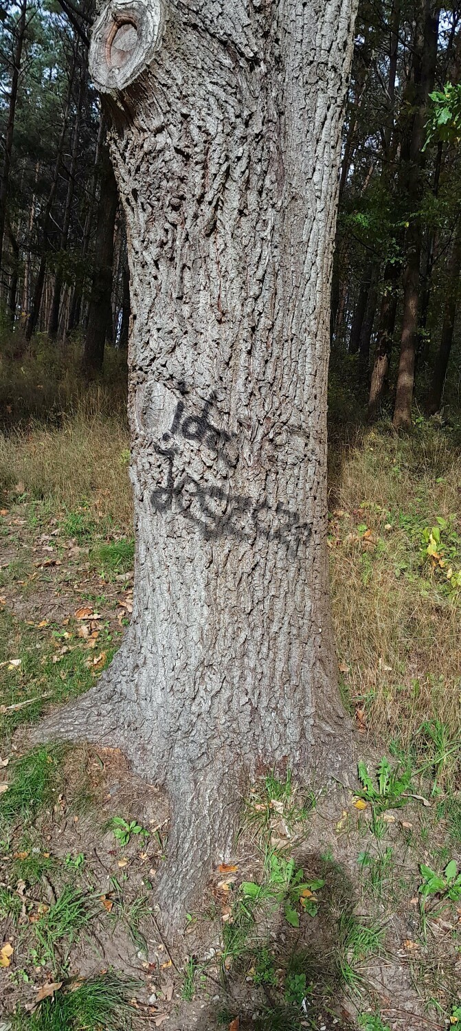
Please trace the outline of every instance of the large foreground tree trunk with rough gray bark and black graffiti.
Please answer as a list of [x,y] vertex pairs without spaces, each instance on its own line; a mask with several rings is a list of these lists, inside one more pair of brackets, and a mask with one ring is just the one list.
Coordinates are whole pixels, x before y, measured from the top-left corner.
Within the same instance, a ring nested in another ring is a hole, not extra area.
[[[42,733],[164,785],[169,928],[258,769],[350,759],[329,616],[329,296],[353,0],[116,0],[92,73],[131,279],[133,617]],[[114,48],[116,47],[116,52]]]

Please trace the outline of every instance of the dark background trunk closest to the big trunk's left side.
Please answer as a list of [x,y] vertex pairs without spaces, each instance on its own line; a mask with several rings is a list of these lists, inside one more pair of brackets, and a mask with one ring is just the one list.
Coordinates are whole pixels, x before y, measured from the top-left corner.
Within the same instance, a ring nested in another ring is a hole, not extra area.
[[83,362],[84,372],[90,377],[102,371],[105,339],[112,324],[113,232],[118,203],[116,177],[107,147],[104,146],[101,153],[101,196]]

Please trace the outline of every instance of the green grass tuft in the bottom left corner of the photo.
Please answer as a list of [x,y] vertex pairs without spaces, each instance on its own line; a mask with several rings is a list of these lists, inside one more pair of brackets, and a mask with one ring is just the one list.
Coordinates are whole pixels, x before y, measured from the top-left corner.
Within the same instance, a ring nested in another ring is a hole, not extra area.
[[138,984],[106,973],[77,988],[66,985],[53,999],[44,999],[32,1016],[18,1012],[12,1031],[128,1031],[135,1016],[130,998]]

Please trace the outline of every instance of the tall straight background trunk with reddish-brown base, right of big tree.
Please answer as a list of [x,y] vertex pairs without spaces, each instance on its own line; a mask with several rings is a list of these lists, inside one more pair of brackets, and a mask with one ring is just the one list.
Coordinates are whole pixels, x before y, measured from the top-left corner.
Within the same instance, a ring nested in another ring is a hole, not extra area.
[[[415,356],[418,333],[418,302],[422,245],[421,200],[423,195],[424,126],[428,94],[433,89],[437,59],[440,7],[433,0],[422,0],[413,54],[413,126],[407,153],[402,158],[409,226],[405,240],[403,270],[403,311],[400,360],[393,425],[396,430],[411,427],[415,385]],[[411,97],[407,98],[411,102]]]

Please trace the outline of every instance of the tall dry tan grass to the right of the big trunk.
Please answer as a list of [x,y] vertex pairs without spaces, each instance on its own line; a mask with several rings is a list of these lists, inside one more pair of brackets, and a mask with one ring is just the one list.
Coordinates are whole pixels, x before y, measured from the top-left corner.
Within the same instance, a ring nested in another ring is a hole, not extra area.
[[406,439],[369,432],[335,464],[331,593],[348,693],[377,739],[407,750],[426,720],[457,737],[461,589],[424,564],[421,532],[457,512],[460,453],[429,426]]

